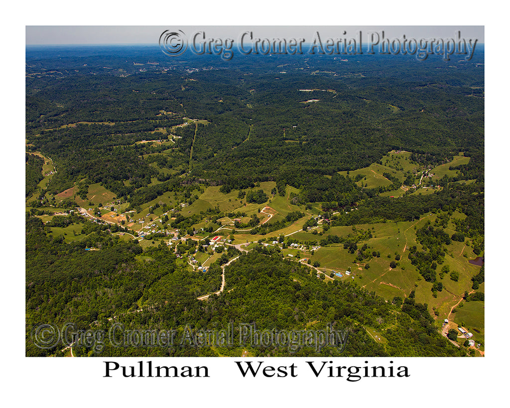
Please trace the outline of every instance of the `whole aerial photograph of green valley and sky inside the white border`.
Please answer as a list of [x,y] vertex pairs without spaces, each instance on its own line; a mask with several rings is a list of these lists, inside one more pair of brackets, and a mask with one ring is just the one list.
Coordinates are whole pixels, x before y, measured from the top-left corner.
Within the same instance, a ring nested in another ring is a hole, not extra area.
[[26,27],[25,356],[484,356],[483,26],[69,29]]

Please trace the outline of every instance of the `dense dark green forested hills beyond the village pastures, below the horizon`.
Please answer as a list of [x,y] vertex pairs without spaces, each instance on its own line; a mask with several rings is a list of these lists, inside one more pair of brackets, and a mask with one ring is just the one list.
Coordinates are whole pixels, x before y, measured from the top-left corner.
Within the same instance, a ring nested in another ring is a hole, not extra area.
[[[133,180],[140,186],[155,175],[136,156],[156,151],[133,143],[150,140],[147,132],[169,130],[185,115],[210,124],[199,124],[196,131],[193,126],[177,129],[181,139],[172,148],[168,164],[183,165],[178,154],[182,153],[189,158],[185,167],[193,170],[189,174],[193,180],[231,188],[275,180],[313,190],[317,173],[333,175],[365,167],[392,149],[428,155],[429,163],[441,163],[452,152],[483,152],[483,98],[472,88],[482,68],[462,64],[457,69],[463,76],[452,81],[448,70],[431,69],[437,61],[411,68],[398,57],[381,83],[382,62],[358,58],[364,64],[364,78],[358,80],[349,78],[349,65],[322,58],[314,61],[316,67],[334,68],[340,78],[310,75],[312,68],[275,78],[274,67],[266,72],[264,65],[253,66],[255,74],[246,75],[241,62],[192,74],[184,74],[186,67],[182,67],[127,77],[99,70],[103,79],[81,72],[59,81],[29,77],[28,140],[53,155],[65,172],[52,181],[55,188],[65,187],[64,179],[87,176],[92,182],[107,183],[120,195],[129,191],[119,181]],[[297,61],[293,64],[299,66]],[[35,88],[40,90],[34,92]],[[49,112],[48,106],[37,104],[41,99],[59,108]],[[303,103],[307,99],[319,103]],[[31,120],[34,109],[37,120]],[[162,110],[167,114],[161,116]],[[57,122],[55,116],[60,118]],[[59,125],[80,121],[114,124],[59,129]],[[161,151],[166,149],[162,146]],[[463,174],[467,176],[469,170],[463,169]]]

